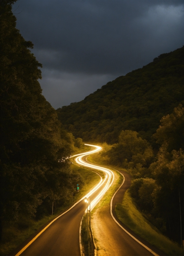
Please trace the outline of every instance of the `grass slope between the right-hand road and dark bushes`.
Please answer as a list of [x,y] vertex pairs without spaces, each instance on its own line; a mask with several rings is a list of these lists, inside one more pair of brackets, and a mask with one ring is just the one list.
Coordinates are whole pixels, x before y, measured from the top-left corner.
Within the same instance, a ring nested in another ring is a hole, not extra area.
[[122,204],[116,205],[115,212],[122,223],[167,255],[183,255],[183,250],[176,243],[162,235],[143,217],[128,191],[124,194]]

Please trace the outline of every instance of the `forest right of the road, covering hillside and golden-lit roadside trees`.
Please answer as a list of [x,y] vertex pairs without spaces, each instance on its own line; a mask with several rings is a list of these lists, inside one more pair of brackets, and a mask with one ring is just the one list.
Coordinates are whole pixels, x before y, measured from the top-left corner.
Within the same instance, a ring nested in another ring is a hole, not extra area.
[[183,47],[57,109],[63,126],[103,143],[96,162],[127,170],[138,209],[183,240]]

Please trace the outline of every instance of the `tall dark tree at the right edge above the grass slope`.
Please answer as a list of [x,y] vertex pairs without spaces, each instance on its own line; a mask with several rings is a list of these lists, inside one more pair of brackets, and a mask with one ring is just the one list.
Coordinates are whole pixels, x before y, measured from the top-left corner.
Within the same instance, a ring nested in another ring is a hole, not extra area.
[[153,193],[154,211],[165,219],[172,239],[180,241],[183,220],[183,118],[181,104],[161,119],[154,138],[161,144],[158,160],[149,167],[158,186]]

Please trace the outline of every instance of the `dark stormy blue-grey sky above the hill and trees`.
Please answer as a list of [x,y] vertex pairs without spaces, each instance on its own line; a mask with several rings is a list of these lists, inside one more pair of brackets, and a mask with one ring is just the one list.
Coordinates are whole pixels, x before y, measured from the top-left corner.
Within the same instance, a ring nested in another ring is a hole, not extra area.
[[184,44],[183,0],[18,0],[12,11],[55,109]]

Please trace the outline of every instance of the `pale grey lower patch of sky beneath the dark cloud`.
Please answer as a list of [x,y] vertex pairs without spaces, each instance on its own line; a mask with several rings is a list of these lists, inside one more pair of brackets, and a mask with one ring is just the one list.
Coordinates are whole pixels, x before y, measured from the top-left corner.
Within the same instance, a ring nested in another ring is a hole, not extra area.
[[40,84],[46,99],[55,108],[59,108],[84,99],[114,78],[111,75],[65,73],[44,69]]

